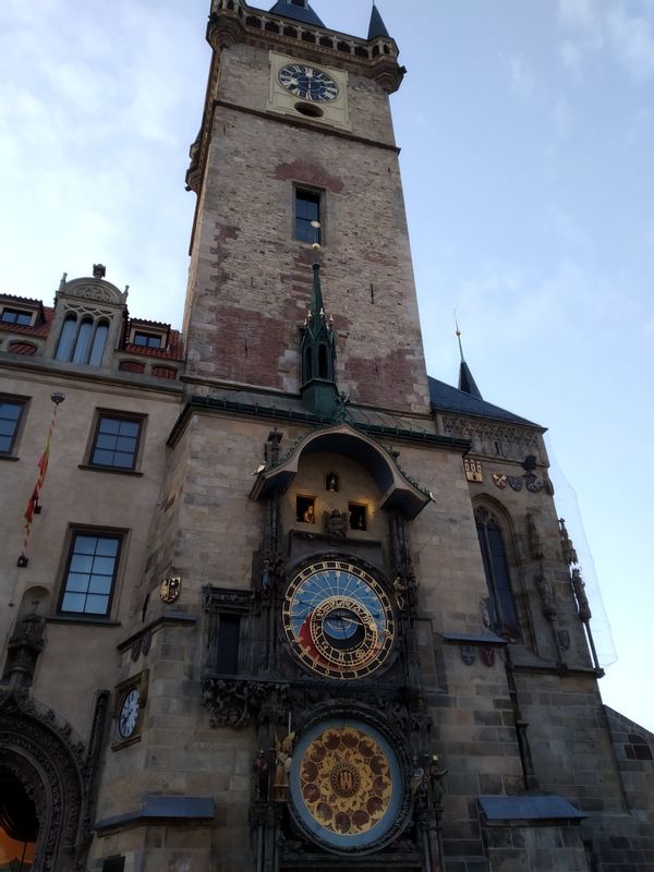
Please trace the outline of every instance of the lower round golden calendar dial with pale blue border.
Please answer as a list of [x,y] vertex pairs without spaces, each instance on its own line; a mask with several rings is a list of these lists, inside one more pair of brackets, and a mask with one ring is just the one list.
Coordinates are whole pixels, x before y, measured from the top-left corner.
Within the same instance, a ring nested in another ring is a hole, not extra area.
[[290,788],[310,834],[344,850],[383,839],[403,792],[396,752],[359,720],[331,720],[305,734],[293,753]]

